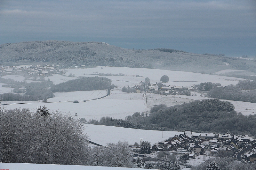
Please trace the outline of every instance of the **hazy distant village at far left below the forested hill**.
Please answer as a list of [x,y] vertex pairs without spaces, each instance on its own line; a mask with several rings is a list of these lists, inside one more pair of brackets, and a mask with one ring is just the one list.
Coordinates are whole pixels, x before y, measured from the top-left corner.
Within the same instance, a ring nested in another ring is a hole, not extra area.
[[0,65],[0,75],[10,74],[27,74],[28,77],[33,76],[48,76],[52,73],[63,74],[64,70],[59,70],[59,65],[18,65],[18,66],[3,66]]

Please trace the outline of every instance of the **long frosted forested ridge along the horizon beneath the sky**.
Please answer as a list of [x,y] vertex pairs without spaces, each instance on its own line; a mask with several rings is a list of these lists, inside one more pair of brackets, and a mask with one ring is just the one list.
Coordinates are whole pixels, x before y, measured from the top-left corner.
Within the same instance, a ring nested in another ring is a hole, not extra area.
[[125,49],[104,42],[28,41],[0,45],[0,64],[57,63],[85,67],[115,66],[213,73],[225,69],[256,72],[256,60],[195,54],[166,48]]

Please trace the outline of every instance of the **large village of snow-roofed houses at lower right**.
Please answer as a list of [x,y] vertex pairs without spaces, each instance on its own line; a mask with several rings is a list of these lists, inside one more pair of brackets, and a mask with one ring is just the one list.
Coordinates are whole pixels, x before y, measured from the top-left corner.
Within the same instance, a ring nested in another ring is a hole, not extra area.
[[[248,135],[184,131],[184,134],[175,135],[168,141],[153,144],[151,150],[174,151],[177,155],[189,154],[189,157],[193,158],[195,154],[204,154],[205,151],[209,151],[211,155],[215,155],[220,151],[235,152],[243,148],[248,142],[250,142]],[[256,148],[252,148],[246,152],[246,159],[251,162],[256,160]]]

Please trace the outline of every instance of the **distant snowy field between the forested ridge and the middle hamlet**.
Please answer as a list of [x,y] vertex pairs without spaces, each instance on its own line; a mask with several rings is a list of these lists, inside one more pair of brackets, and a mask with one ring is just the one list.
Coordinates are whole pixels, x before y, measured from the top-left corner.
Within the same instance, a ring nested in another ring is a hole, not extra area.
[[[117,86],[128,86],[137,85],[141,81],[148,77],[151,83],[160,82],[160,78],[163,75],[167,75],[170,79],[166,85],[180,85],[180,86],[190,86],[194,84],[200,84],[201,82],[212,82],[220,83],[221,85],[236,85],[242,78],[231,78],[224,76],[216,76],[209,74],[191,73],[183,71],[170,71],[170,70],[159,70],[159,69],[144,69],[144,68],[128,68],[128,67],[95,67],[89,69],[65,69],[68,70],[66,75],[70,73],[75,74],[75,76],[81,77],[94,77],[97,75],[92,75],[92,73],[111,73],[119,74],[123,73],[126,76],[102,76],[111,79],[112,83]],[[144,76],[136,77],[136,75]],[[66,77],[64,77],[66,78]]]

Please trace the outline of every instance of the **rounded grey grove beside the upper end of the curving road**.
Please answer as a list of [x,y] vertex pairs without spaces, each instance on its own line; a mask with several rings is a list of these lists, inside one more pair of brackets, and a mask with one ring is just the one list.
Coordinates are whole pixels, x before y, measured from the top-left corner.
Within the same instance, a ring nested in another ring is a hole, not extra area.
[[111,80],[100,77],[85,77],[69,80],[67,82],[53,85],[52,92],[74,92],[74,91],[89,91],[89,90],[104,90],[109,89]]

